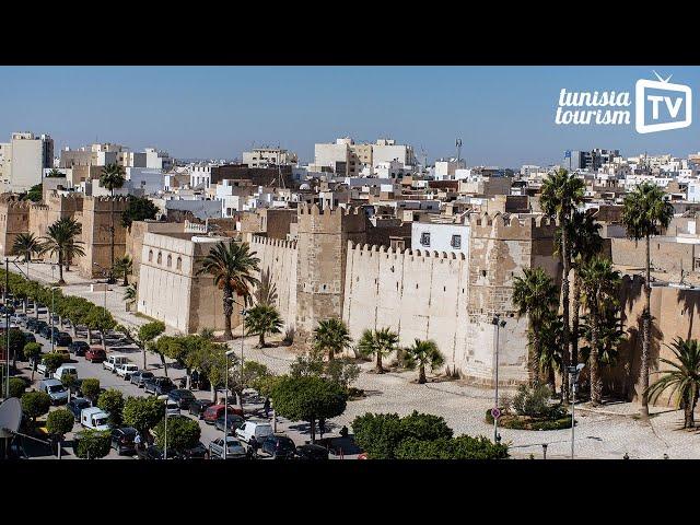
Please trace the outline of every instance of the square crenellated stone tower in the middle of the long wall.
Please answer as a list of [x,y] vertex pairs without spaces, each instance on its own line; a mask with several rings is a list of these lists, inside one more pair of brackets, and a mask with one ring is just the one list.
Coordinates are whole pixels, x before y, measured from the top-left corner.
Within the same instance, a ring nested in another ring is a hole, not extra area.
[[348,241],[366,243],[368,222],[359,208],[299,208],[295,326],[302,340],[319,320],[342,318]]

